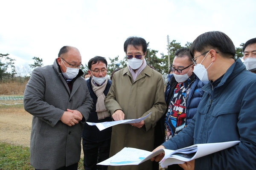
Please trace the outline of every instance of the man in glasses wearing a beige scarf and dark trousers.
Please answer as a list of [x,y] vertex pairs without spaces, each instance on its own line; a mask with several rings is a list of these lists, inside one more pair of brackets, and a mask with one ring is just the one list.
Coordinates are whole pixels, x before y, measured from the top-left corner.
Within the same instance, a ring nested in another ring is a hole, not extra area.
[[[87,122],[110,122],[112,118],[108,113],[104,98],[107,96],[111,81],[107,76],[108,62],[105,57],[96,56],[88,62],[88,73],[90,79],[87,87],[93,99],[93,109],[90,112]],[[84,125],[83,130],[83,151],[84,170],[107,170],[108,166],[96,165],[109,158],[112,127],[99,131],[96,126]]]

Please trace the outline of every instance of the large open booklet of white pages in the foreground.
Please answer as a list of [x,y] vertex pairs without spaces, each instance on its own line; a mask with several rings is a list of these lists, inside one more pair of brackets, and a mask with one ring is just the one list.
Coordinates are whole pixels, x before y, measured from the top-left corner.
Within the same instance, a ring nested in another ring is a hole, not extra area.
[[159,155],[160,153],[165,153],[165,156],[159,163],[161,167],[166,167],[171,164],[183,164],[186,161],[191,161],[193,159],[227,149],[239,142],[240,141],[194,144],[178,150],[160,149],[154,153],[147,150],[124,147],[121,151],[116,153],[116,155],[98,164],[111,166],[137,165]]

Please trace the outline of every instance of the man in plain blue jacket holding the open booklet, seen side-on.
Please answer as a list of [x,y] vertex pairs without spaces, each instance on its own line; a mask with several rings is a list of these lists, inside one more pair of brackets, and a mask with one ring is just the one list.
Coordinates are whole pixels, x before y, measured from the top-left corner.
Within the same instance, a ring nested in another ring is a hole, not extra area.
[[[220,31],[198,36],[190,53],[196,64],[194,73],[210,82],[202,88],[204,95],[190,124],[155,150],[239,140],[236,146],[180,166],[185,170],[255,170],[255,74],[246,71],[240,59],[234,60],[235,46]],[[160,154],[151,160],[162,158]]]

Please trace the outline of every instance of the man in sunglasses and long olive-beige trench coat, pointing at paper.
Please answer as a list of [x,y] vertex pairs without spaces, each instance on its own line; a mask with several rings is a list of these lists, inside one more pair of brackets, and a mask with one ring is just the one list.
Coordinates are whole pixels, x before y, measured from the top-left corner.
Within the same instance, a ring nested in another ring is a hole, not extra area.
[[[110,156],[124,147],[152,151],[154,127],[166,110],[162,75],[145,61],[147,42],[129,37],[124,43],[128,66],[113,74],[112,85],[105,98],[105,106],[117,120],[150,116],[139,123],[113,126]],[[109,166],[108,170],[152,170],[152,162],[140,165]]]

